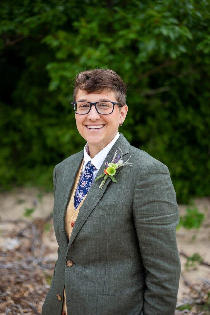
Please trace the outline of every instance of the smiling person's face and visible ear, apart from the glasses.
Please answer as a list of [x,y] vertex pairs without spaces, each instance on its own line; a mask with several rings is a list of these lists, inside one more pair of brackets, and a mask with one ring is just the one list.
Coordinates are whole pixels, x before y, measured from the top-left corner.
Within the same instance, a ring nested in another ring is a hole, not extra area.
[[[117,102],[115,92],[104,90],[100,94],[87,94],[83,90],[78,90],[76,101],[85,100],[95,103],[101,100],[109,100]],[[123,104],[122,104],[123,105]],[[119,110],[120,109],[120,110]],[[75,113],[77,129],[80,135],[88,142],[90,152],[99,152],[112,141],[118,132],[120,123],[123,123],[128,111],[128,106],[119,107],[114,105],[114,110],[111,114],[101,115],[96,112],[95,106],[92,106],[90,112],[85,115]],[[98,130],[89,129],[87,126],[100,126]]]

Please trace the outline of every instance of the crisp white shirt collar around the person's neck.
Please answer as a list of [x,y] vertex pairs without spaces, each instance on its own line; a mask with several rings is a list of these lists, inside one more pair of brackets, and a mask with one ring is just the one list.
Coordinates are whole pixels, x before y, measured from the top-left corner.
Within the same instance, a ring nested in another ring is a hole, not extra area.
[[95,157],[93,157],[92,159],[89,156],[89,148],[88,148],[88,142],[87,142],[85,144],[85,148],[84,148],[84,167],[89,161],[91,161],[91,163],[93,163],[93,165],[96,167],[96,169],[99,170],[100,167],[102,166],[102,163],[103,163],[105,157],[107,156],[108,152],[110,151],[111,147],[114,145],[114,143],[117,141],[117,139],[119,137],[120,137],[120,134],[119,134],[119,132],[117,132],[114,139],[112,139],[112,141],[109,142],[108,145],[105,146],[101,151],[99,151],[95,155]]

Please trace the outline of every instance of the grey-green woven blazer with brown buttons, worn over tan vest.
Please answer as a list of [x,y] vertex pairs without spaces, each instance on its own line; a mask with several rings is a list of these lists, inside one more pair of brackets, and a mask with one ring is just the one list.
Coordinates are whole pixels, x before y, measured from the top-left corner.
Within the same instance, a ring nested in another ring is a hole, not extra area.
[[117,183],[109,177],[102,189],[102,179],[92,183],[69,240],[65,211],[84,149],[53,170],[58,259],[42,315],[61,314],[64,285],[68,315],[174,315],[181,265],[170,174],[122,133],[104,163],[112,161],[118,147],[124,161],[131,155],[133,166],[116,170]]

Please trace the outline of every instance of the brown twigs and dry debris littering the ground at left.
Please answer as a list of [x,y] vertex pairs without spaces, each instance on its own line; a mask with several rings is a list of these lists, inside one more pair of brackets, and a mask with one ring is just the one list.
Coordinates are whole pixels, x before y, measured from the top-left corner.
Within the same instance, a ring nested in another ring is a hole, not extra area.
[[[36,219],[32,222],[20,219],[12,231],[4,236],[17,239],[13,249],[0,251],[0,315],[40,315],[44,299],[50,288],[55,260],[50,259],[48,248],[42,244],[44,224],[51,219]],[[8,220],[7,220],[8,221]],[[2,222],[2,221],[1,221]],[[21,227],[24,224],[24,227]],[[5,242],[6,243],[6,242]]]

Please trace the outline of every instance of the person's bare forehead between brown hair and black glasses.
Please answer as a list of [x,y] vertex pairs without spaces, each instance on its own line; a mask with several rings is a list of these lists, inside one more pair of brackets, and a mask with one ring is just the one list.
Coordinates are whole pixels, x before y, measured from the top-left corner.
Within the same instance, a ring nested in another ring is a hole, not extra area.
[[104,90],[101,93],[87,93],[81,89],[78,89],[76,100],[87,100],[90,102],[96,102],[98,100],[116,101],[116,93],[110,90]]

